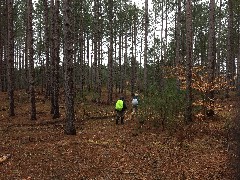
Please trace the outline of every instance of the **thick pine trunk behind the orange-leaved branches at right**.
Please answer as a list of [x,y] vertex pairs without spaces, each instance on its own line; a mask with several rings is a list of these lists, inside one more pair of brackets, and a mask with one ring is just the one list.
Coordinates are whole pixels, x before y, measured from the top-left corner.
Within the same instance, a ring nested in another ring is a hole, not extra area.
[[209,108],[207,110],[208,116],[214,115],[214,78],[215,78],[215,64],[216,64],[216,41],[215,41],[215,0],[210,0],[209,13],[209,33],[208,33],[208,85],[207,101]]

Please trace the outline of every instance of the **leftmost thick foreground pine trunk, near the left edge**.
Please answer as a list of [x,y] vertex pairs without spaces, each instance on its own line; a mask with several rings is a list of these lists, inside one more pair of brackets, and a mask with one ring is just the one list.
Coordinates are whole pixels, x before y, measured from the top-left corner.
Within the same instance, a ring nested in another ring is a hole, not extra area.
[[15,116],[14,111],[14,38],[13,38],[13,0],[7,1],[8,7],[8,97],[9,116]]

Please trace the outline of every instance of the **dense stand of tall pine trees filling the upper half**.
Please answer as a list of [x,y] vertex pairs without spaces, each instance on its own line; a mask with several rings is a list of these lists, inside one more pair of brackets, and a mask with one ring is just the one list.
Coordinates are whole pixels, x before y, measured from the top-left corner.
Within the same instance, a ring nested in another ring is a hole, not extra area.
[[[239,88],[240,1],[153,0],[152,11],[148,0],[142,7],[125,0],[33,2],[0,3],[0,89],[8,91],[10,116],[14,90],[24,88],[35,119],[34,93],[42,85],[52,117],[59,118],[65,87],[66,132],[71,134],[74,98],[84,101],[88,93],[94,102],[111,104],[114,93],[163,93],[168,70],[175,67],[172,78],[179,92],[186,88],[186,122],[192,121],[199,93],[192,91],[197,75],[207,77],[201,93],[212,115],[216,79],[227,80],[227,95]],[[196,67],[204,73],[195,73]]]

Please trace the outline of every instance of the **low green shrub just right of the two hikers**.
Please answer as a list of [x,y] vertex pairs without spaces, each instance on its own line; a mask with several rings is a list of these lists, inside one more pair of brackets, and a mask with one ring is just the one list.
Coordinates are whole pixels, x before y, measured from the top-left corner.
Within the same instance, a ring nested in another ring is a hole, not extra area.
[[161,89],[151,86],[140,102],[139,121],[153,120],[155,126],[175,127],[184,112],[184,98],[185,91],[177,88],[175,79],[166,79]]

